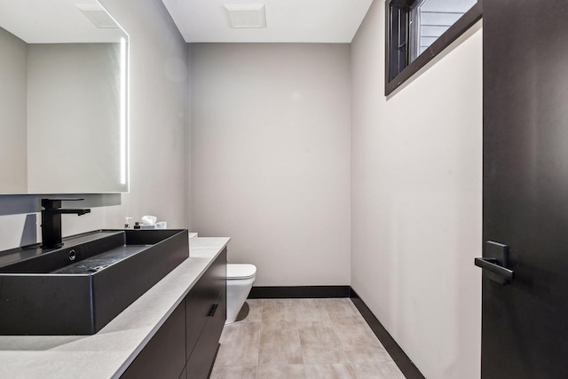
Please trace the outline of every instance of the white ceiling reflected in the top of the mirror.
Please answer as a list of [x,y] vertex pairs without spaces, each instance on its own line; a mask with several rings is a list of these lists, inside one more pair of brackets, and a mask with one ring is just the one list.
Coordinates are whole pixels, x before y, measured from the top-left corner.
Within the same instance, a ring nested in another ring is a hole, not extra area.
[[27,43],[118,42],[120,28],[97,28],[77,7],[91,10],[97,0],[0,0],[0,28]]

